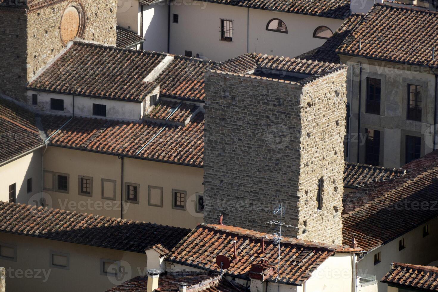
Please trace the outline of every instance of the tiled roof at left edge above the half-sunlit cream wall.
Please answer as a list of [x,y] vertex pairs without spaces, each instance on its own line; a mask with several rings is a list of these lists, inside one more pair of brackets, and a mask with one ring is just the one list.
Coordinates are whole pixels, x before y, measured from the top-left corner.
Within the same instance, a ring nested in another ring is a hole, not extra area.
[[0,162],[42,143],[35,115],[11,101],[0,99]]

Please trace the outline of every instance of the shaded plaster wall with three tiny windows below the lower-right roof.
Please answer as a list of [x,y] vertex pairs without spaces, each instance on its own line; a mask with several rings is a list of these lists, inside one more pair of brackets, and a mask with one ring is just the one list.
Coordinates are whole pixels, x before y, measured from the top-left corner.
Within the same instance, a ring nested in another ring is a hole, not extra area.
[[[438,206],[434,206],[438,207]],[[357,264],[357,275],[367,278],[367,275],[375,275],[378,283],[378,291],[386,292],[387,284],[380,283],[380,280],[390,270],[391,262],[401,262],[406,264],[427,265],[434,260],[438,260],[436,244],[438,242],[438,218],[427,222],[430,234],[423,237],[423,226],[392,240],[390,243],[367,254]],[[399,240],[405,239],[406,248],[399,251]],[[381,252],[381,262],[374,265],[374,254]]]

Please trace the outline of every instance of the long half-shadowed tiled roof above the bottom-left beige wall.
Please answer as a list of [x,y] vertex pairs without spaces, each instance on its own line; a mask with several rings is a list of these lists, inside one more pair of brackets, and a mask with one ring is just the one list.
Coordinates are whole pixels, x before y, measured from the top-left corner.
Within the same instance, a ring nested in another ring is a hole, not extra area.
[[171,250],[190,230],[0,201],[0,232],[143,253]]

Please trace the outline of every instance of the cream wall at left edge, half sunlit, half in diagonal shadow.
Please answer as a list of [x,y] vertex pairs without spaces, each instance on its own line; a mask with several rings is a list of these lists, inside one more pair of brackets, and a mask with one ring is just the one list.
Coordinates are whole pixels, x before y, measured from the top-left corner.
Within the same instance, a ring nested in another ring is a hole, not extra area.
[[[42,148],[0,165],[0,201],[9,201],[9,186],[15,183],[17,203],[28,204],[29,199],[41,192]],[[27,179],[32,178],[32,192],[27,192]]]

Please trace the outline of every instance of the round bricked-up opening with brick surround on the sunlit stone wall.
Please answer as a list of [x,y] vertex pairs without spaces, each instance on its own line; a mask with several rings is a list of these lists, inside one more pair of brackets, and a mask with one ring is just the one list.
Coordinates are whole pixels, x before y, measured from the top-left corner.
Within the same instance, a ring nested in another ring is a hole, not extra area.
[[60,37],[64,46],[75,37],[82,38],[85,31],[85,13],[81,4],[71,2],[64,9],[60,23]]

